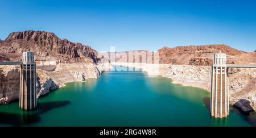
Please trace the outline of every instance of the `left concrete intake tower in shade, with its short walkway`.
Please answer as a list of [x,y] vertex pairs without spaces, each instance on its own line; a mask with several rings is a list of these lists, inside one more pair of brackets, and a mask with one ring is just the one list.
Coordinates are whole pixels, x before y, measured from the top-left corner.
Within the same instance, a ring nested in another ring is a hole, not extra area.
[[36,63],[34,53],[23,52],[22,61],[4,61],[0,65],[20,65],[19,107],[33,110],[36,102]]

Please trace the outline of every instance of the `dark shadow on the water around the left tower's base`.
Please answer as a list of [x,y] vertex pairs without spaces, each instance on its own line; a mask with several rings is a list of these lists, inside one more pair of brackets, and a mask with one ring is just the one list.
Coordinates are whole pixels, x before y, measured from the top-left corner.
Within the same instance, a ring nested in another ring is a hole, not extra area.
[[38,107],[33,111],[24,111],[20,109],[18,114],[0,112],[0,124],[9,124],[11,126],[22,126],[31,123],[40,122],[40,114],[53,108],[66,106],[70,101],[54,101],[38,103]]

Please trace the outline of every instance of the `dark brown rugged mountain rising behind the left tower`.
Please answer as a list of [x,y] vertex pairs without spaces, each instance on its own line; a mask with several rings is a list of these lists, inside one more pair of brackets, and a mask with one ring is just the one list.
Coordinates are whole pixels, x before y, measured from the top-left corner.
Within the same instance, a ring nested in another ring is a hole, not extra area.
[[0,43],[0,56],[10,60],[17,60],[20,53],[27,50],[34,52],[35,60],[40,61],[95,63],[101,60],[98,53],[88,45],[60,39],[52,32],[13,32]]

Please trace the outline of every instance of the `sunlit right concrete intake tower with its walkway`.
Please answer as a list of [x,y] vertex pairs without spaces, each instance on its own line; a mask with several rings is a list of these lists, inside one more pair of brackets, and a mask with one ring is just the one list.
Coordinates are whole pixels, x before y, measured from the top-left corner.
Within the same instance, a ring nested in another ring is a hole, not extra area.
[[226,64],[226,54],[214,54],[210,94],[210,115],[225,118],[229,115],[229,68],[256,68],[256,64]]

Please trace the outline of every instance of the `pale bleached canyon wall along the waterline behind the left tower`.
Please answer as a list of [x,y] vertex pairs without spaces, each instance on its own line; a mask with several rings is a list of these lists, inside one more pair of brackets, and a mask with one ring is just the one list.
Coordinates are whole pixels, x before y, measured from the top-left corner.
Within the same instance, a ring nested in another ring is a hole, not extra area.
[[[98,64],[58,64],[53,72],[36,69],[36,97],[39,98],[68,82],[97,78],[109,68],[112,68],[109,62],[98,62]],[[19,99],[19,77],[19,66],[0,66],[0,104]]]

